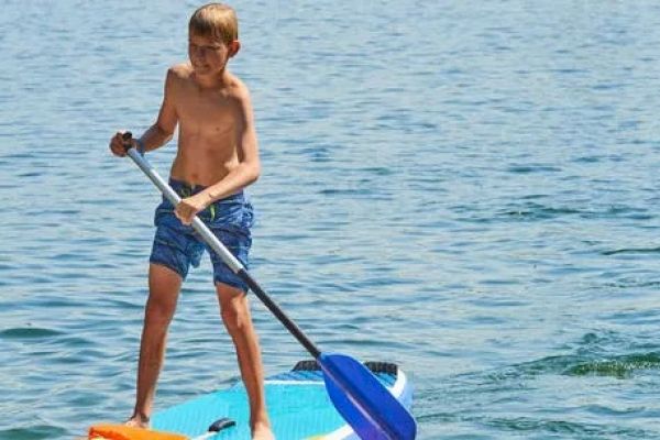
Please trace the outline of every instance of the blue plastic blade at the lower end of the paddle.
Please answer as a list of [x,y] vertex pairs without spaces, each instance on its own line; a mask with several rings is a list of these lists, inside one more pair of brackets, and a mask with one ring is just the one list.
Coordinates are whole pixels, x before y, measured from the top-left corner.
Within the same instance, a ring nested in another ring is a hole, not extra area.
[[361,439],[415,439],[415,419],[366,366],[345,354],[321,353],[317,362],[330,399]]

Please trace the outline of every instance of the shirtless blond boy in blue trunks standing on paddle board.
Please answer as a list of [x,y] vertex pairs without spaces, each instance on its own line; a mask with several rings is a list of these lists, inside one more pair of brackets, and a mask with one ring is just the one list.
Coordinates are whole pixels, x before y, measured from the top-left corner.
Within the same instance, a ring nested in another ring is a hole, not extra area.
[[[172,139],[178,124],[178,151],[169,183],[183,200],[173,207],[163,199],[156,209],[135,409],[127,422],[144,428],[148,426],[180,286],[190,264],[199,264],[205,249],[190,223],[199,215],[246,266],[253,212],[243,188],[260,175],[249,90],[227,69],[229,58],[241,47],[234,11],[219,3],[201,7],[190,18],[188,33],[189,63],[169,68],[156,122],[131,141],[139,151],[156,150]],[[125,155],[122,134],[117,133],[110,142],[117,156]],[[209,252],[222,320],[235,345],[250,398],[252,437],[271,440],[274,437],[266,413],[258,340],[245,296],[248,286]]]

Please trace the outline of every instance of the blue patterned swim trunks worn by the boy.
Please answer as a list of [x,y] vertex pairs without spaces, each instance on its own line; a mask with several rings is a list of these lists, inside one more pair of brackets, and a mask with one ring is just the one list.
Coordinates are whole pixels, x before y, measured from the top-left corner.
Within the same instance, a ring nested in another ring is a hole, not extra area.
[[[182,197],[190,197],[206,187],[190,186],[169,179],[169,186]],[[252,245],[250,229],[254,223],[254,209],[243,191],[215,201],[197,215],[222,244],[248,268]],[[190,265],[199,266],[205,249],[211,255],[213,282],[223,283],[248,292],[248,285],[234,274],[193,229],[174,215],[174,206],[163,197],[154,216],[156,233],[150,262],[168,267],[186,279]]]

